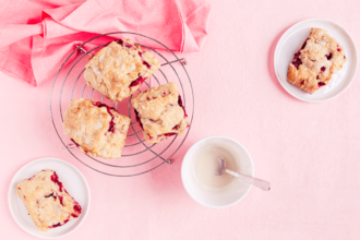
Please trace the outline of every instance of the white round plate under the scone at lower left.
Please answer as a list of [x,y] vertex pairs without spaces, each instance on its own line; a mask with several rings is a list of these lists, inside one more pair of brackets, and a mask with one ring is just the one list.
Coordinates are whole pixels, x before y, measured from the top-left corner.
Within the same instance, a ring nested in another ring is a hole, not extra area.
[[[40,170],[51,169],[57,172],[64,189],[81,205],[82,213],[79,218],[68,224],[43,232],[36,228],[32,218],[16,194],[16,185],[26,178],[31,178]],[[9,207],[16,224],[28,233],[38,238],[60,238],[74,231],[84,221],[91,205],[91,192],[84,176],[71,164],[52,157],[33,160],[22,167],[13,177],[9,189]]]

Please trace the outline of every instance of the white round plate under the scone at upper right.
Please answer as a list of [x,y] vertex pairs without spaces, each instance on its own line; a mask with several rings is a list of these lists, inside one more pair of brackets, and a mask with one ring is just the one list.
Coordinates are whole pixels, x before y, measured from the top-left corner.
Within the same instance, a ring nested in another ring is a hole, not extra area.
[[[345,48],[347,61],[343,69],[333,75],[329,84],[321,87],[310,95],[302,89],[293,86],[287,81],[289,63],[293,59],[295,52],[307,39],[311,27],[319,27],[328,32]],[[319,103],[332,99],[343,93],[353,80],[358,67],[357,48],[350,35],[338,24],[328,20],[305,20],[291,26],[277,43],[274,53],[275,73],[283,87],[293,97],[304,100]]]

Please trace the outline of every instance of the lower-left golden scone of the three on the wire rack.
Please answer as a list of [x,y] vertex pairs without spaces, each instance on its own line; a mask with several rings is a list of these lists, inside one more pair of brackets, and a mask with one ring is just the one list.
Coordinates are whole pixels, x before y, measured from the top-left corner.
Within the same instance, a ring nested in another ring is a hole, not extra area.
[[63,133],[89,156],[121,157],[130,118],[97,100],[73,99],[68,106]]

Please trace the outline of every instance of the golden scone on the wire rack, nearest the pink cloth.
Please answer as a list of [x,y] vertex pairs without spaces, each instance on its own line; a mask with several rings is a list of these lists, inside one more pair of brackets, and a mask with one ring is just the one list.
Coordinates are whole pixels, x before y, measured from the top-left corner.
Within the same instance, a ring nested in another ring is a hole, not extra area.
[[85,65],[86,84],[111,101],[132,95],[153,75],[160,62],[149,51],[130,39],[119,39],[104,47]]

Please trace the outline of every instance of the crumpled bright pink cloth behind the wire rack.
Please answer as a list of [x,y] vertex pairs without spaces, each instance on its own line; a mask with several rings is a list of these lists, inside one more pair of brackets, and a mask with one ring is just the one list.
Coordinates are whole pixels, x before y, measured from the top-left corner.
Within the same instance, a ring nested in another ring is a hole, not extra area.
[[79,44],[98,34],[135,32],[175,51],[199,51],[207,35],[211,9],[204,0],[0,3],[0,70],[33,86],[52,79]]

